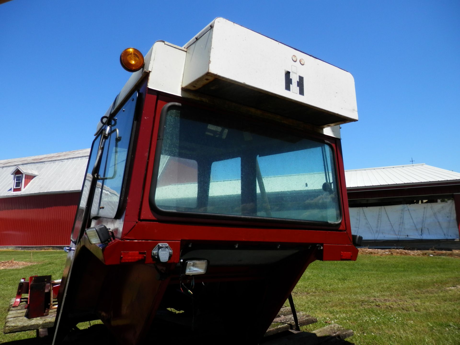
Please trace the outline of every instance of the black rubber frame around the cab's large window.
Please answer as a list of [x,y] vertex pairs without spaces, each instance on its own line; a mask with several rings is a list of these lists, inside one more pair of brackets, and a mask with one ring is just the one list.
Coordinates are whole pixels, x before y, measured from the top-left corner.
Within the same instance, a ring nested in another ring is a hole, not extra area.
[[[247,215],[230,215],[230,214],[217,214],[217,213],[198,213],[198,212],[183,212],[183,211],[176,211],[176,210],[163,210],[156,206],[155,203],[155,192],[156,192],[156,184],[158,178],[158,171],[160,166],[160,157],[161,157],[161,149],[163,144],[165,126],[166,126],[166,118],[167,112],[169,108],[176,106],[182,107],[182,103],[178,102],[169,102],[163,106],[160,112],[160,121],[159,121],[159,128],[158,134],[156,138],[156,146],[155,146],[155,158],[153,163],[153,171],[151,176],[151,183],[150,183],[150,191],[149,191],[149,206],[150,211],[154,215],[156,219],[169,221],[169,222],[184,222],[190,221],[193,223],[211,223],[211,224],[233,224],[233,225],[246,225],[246,226],[263,226],[263,227],[270,227],[270,228],[300,228],[305,229],[305,227],[309,227],[309,230],[339,230],[339,227],[343,223],[344,217],[344,209],[343,209],[343,202],[342,202],[342,186],[340,182],[340,174],[339,174],[339,162],[337,161],[338,154],[337,154],[337,144],[333,143],[329,140],[326,140],[324,136],[320,133],[316,132],[306,132],[305,130],[293,127],[292,125],[284,124],[284,123],[270,123],[268,121],[264,122],[262,126],[264,127],[271,127],[271,128],[279,128],[280,125],[284,128],[289,128],[289,130],[298,135],[300,138],[305,138],[308,140],[313,140],[322,144],[327,144],[331,147],[332,153],[334,155],[334,171],[336,179],[337,179],[337,199],[338,199],[338,206],[340,210],[340,217],[337,222],[321,222],[321,221],[312,221],[312,220],[299,220],[299,219],[282,219],[282,218],[270,218],[270,217],[260,217],[260,216],[247,216]],[[229,111],[225,111],[223,109],[208,109],[196,104],[189,104],[184,103],[184,106],[190,107],[196,110],[203,110],[206,112],[213,112],[213,111],[220,111],[222,115],[229,115],[231,116],[232,113]],[[240,116],[245,116],[246,114],[239,114]],[[249,115],[248,121],[255,122],[253,118]]]

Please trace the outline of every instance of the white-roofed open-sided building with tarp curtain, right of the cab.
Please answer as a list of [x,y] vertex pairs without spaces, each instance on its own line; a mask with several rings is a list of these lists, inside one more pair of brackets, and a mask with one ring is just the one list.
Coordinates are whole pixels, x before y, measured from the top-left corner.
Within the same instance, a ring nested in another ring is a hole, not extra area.
[[345,179],[363,245],[459,246],[460,173],[411,164],[347,170]]

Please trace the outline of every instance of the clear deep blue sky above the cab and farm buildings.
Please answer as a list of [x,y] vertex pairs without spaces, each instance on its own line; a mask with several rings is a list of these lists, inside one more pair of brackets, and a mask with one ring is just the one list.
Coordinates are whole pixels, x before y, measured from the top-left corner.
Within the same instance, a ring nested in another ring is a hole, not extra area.
[[0,160],[88,148],[129,73],[120,52],[182,46],[215,17],[343,68],[359,121],[346,169],[460,172],[460,1],[62,1],[0,5]]

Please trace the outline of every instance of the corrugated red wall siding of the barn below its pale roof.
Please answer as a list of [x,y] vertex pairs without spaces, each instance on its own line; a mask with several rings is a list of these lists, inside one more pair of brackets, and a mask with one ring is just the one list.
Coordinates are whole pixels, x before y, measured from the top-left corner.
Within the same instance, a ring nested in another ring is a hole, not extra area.
[[80,193],[0,199],[0,246],[61,246],[70,242]]

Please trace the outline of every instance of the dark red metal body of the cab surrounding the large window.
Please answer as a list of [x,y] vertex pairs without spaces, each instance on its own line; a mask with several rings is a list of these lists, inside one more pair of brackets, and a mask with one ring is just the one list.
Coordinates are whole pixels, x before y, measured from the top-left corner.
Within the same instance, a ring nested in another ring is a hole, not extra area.
[[[311,137],[327,140],[336,153],[340,201],[343,207],[343,217],[339,224],[325,226],[320,223],[289,222],[258,224],[245,220],[236,223],[227,219],[212,222],[204,219],[189,222],[187,218],[157,219],[150,209],[149,193],[161,109],[170,102],[192,102],[158,95],[147,88],[146,81],[140,87],[139,93],[144,99],[139,99],[138,106],[142,106],[142,113],[137,116],[137,137],[132,148],[131,166],[128,167],[130,178],[125,200],[121,201],[126,206],[121,238],[109,242],[108,245],[96,245],[91,244],[86,235],[82,237],[75,250],[64,317],[98,311],[99,317],[122,342],[135,344],[148,331],[168,286],[179,285],[182,279],[177,268],[181,259],[180,253],[190,243],[208,246],[211,250],[214,250],[213,246],[232,243],[253,247],[281,243],[287,247],[299,247],[299,252],[285,260],[284,264],[276,263],[278,266],[274,265],[274,270],[265,267],[260,271],[249,266],[210,267],[206,275],[195,278],[197,282],[210,284],[259,282],[260,291],[251,289],[244,292],[247,296],[243,296],[246,303],[251,303],[253,299],[261,303],[253,311],[260,314],[253,325],[254,331],[247,331],[255,332],[250,336],[257,338],[263,336],[311,262],[316,259],[356,260],[357,249],[351,241],[340,140],[316,132],[311,132]],[[195,106],[209,109],[204,105]],[[152,258],[152,249],[158,243],[167,243],[173,250],[167,263],[155,262]],[[135,262],[122,262],[123,256],[131,255],[129,253],[133,255]],[[63,279],[67,272],[68,268],[64,270]],[[169,274],[162,275],[167,272]],[[242,290],[239,293],[243,293]],[[262,303],[268,300],[271,303]],[[71,327],[72,320],[65,319],[63,322],[66,327]]]

